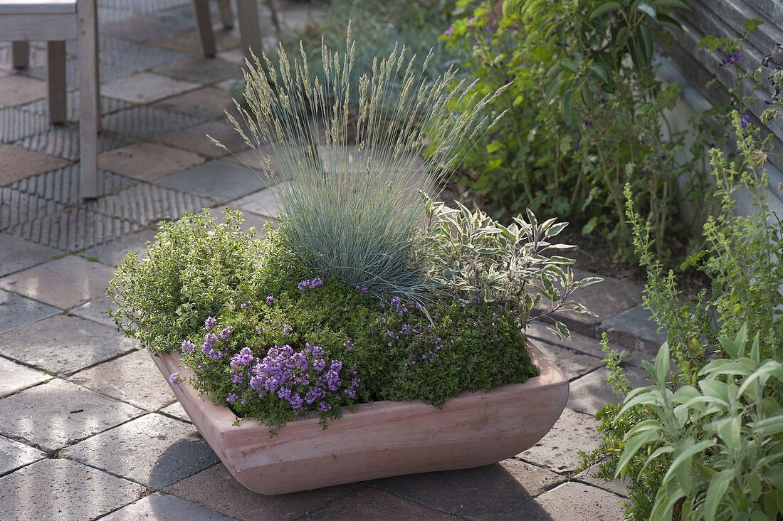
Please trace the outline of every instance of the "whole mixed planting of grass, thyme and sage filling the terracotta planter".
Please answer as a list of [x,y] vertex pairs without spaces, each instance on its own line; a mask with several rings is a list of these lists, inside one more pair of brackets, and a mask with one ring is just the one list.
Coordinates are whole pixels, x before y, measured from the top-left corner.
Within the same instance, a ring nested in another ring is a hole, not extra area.
[[[358,403],[441,407],[525,382],[538,371],[521,330],[532,307],[589,313],[572,293],[597,281],[574,280],[571,259],[548,256],[567,248],[552,242],[565,223],[531,212],[502,226],[424,195],[455,149],[493,125],[481,110],[496,96],[447,89],[453,71],[423,81],[431,58],[417,72],[395,49],[360,76],[349,146],[350,37],[346,47],[323,47],[323,74],[282,48],[279,63],[248,64],[233,121],[269,179],[288,182],[276,187],[279,225],[256,239],[235,212],[225,223],[186,214],[161,226],[145,259],[128,255],[109,289],[126,334],[153,353],[179,351],[190,385],[271,429],[311,413],[326,426]],[[463,96],[474,109],[453,114]]]

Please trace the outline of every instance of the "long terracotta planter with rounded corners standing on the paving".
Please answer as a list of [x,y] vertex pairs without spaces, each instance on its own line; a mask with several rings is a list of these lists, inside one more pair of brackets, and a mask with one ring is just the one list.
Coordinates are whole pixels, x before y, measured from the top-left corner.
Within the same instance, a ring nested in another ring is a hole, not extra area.
[[[328,429],[316,414],[288,422],[276,436],[252,419],[236,423],[229,407],[204,400],[186,383],[171,385],[201,436],[237,481],[260,494],[287,494],[367,479],[469,469],[511,458],[535,445],[560,418],[568,379],[529,346],[540,374],[525,383],[464,392],[442,409],[382,401],[345,409]],[[154,356],[165,377],[192,376],[176,353]]]

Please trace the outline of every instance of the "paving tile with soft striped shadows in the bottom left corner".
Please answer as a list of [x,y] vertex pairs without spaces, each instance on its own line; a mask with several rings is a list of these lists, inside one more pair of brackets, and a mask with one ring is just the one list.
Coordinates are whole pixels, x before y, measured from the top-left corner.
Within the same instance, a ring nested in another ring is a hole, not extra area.
[[0,478],[0,518],[96,519],[137,500],[144,487],[65,459],[45,459]]

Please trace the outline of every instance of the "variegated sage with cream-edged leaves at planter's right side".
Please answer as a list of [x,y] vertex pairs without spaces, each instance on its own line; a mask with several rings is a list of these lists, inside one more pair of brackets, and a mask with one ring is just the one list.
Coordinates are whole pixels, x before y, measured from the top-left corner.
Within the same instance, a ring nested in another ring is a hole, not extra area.
[[569,267],[574,260],[557,255],[573,246],[551,242],[568,223],[555,219],[539,223],[528,211],[526,219],[518,215],[503,226],[458,201],[456,208],[449,208],[423,197],[430,207],[424,230],[431,266],[428,277],[443,291],[466,303],[498,302],[516,317],[519,327],[540,320],[558,338],[570,338],[570,334],[554,313],[594,315],[572,295],[602,279],[576,280]]

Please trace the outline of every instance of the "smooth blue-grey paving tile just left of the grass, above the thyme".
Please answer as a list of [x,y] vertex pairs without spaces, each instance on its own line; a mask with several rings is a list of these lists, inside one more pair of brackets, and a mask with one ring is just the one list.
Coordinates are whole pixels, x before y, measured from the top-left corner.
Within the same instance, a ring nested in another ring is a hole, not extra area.
[[223,201],[242,197],[266,186],[265,180],[255,172],[226,160],[204,163],[185,172],[168,175],[157,183]]

